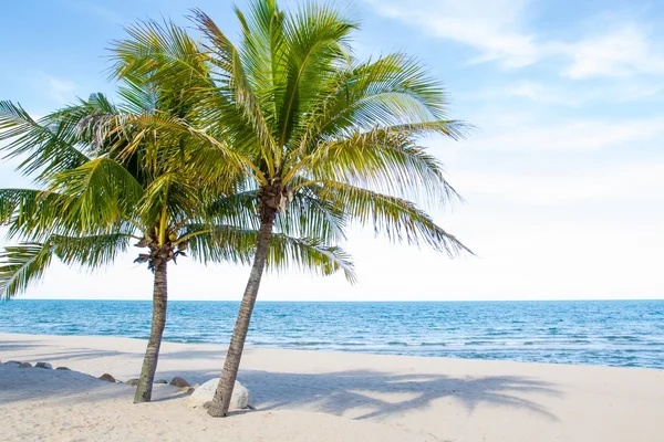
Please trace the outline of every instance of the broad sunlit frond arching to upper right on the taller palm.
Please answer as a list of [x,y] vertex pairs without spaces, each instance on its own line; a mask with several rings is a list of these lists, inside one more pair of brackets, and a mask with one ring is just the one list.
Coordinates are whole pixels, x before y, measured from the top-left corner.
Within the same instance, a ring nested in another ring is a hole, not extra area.
[[375,127],[438,123],[432,128],[453,139],[463,138],[469,129],[448,118],[442,85],[404,54],[350,64],[320,88],[318,102],[293,137],[293,148]]

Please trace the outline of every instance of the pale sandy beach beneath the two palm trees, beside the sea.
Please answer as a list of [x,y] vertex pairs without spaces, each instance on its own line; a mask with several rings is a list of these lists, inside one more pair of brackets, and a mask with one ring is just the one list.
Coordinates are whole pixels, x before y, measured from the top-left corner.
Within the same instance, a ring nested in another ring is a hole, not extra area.
[[[212,419],[174,387],[132,404],[145,343],[0,334],[0,441],[664,441],[664,370],[248,349],[256,411]],[[157,378],[218,377],[222,348],[165,344]]]

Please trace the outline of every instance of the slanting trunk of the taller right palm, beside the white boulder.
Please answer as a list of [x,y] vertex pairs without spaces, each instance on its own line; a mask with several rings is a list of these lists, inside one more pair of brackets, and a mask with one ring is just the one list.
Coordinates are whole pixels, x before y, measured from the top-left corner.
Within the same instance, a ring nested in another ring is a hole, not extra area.
[[242,296],[236,326],[232,330],[232,337],[230,338],[230,346],[228,347],[228,352],[226,354],[226,361],[224,362],[221,379],[219,379],[219,385],[217,386],[217,391],[212,398],[212,403],[208,408],[208,414],[216,418],[225,417],[228,412],[228,407],[230,406],[230,396],[232,394],[232,388],[235,387],[235,381],[238,377],[240,359],[245,348],[245,339],[247,338],[247,332],[249,332],[251,313],[253,312],[253,305],[256,304],[256,297],[258,296],[260,280],[262,277],[266,260],[270,250],[270,239],[272,236],[272,227],[274,225],[276,217],[276,210],[269,208],[263,209],[260,230],[258,233],[258,242],[256,244],[253,266],[251,267],[251,273],[249,274],[247,288],[245,288],[245,295]]

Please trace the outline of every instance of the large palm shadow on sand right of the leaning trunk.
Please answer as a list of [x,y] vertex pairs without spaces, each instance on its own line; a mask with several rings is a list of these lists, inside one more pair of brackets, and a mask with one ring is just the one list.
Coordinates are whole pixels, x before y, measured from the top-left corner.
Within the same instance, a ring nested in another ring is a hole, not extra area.
[[[481,403],[526,409],[557,421],[546,407],[526,396],[561,397],[551,383],[520,376],[453,378],[442,375],[391,375],[372,370],[328,373],[241,371],[259,410],[307,407],[354,419],[380,419],[429,407],[443,398],[458,400],[468,413]],[[371,411],[366,411],[371,410]]]

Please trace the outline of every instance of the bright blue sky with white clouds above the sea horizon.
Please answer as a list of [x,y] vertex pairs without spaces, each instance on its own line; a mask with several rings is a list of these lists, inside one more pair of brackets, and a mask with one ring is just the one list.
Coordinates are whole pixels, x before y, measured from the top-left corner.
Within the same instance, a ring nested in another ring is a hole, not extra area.
[[[295,1],[282,1],[283,7]],[[245,7],[243,0],[237,4]],[[664,298],[662,0],[354,0],[360,57],[403,51],[444,82],[466,140],[422,141],[466,202],[433,208],[476,256],[394,245],[356,230],[360,283],[268,275],[262,301]],[[232,2],[25,0],[0,15],[0,99],[44,115],[113,94],[123,24],[200,8],[237,35]],[[27,186],[0,164],[0,187]],[[4,242],[3,244],[6,244]],[[133,255],[87,273],[54,264],[28,298],[149,299]],[[172,299],[239,299],[249,269],[179,260]]]

